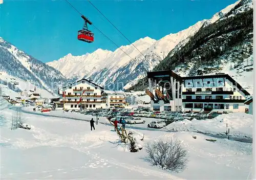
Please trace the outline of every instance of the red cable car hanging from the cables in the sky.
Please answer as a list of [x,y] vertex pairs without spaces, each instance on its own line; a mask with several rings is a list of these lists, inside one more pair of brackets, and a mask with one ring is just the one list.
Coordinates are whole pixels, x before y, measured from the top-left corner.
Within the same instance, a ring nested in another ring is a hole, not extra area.
[[92,25],[92,22],[88,18],[86,18],[84,15],[81,15],[81,17],[84,20],[84,24],[83,24],[82,30],[78,31],[77,39],[84,42],[89,42],[89,43],[93,42],[94,34],[90,30],[88,30],[88,27],[87,27],[87,23],[89,25]]

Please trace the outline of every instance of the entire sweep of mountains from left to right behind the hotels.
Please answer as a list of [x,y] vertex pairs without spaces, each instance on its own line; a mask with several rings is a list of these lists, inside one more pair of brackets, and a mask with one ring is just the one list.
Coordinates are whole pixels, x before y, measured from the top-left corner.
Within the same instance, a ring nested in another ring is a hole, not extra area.
[[178,33],[121,46],[132,59],[120,49],[98,49],[45,64],[0,38],[0,71],[54,93],[58,88],[52,82],[62,85],[81,78],[105,88],[123,84],[125,89],[143,90],[146,84],[140,80],[146,80],[147,71],[171,69],[181,76],[228,73],[252,93],[252,14],[252,0],[238,1]]

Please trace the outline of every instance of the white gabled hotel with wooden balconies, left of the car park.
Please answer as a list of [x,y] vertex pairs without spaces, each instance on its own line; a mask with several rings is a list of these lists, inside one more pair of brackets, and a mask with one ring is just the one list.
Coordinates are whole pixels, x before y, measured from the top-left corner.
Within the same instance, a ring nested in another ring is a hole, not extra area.
[[[105,103],[101,100],[102,89],[103,87],[87,79],[81,79],[77,82],[61,87],[59,94],[62,95],[62,100],[55,102],[56,110],[62,110],[63,108],[69,110],[80,108],[104,108]],[[63,97],[63,92],[65,92],[65,97]],[[82,93],[83,95],[81,96]],[[82,101],[78,103],[80,97]]]

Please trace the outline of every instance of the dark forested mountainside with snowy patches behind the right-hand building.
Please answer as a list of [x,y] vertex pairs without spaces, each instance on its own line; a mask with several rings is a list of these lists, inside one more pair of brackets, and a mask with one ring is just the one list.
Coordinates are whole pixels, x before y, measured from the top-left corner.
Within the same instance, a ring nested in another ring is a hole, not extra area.
[[[219,17],[213,24],[204,25],[190,36],[186,43],[179,43],[154,71],[173,70],[181,76],[225,73],[252,94],[252,1],[239,1]],[[142,85],[140,82],[146,81],[139,81],[131,89],[147,86],[147,83]]]

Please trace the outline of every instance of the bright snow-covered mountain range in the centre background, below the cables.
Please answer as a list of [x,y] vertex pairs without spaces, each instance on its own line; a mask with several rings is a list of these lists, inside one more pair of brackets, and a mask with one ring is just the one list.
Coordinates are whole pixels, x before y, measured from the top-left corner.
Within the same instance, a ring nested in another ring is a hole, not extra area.
[[60,71],[66,78],[91,77],[96,83],[105,87],[122,88],[124,86],[124,88],[128,88],[145,76],[146,71],[152,70],[175,47],[184,46],[189,40],[188,37],[193,36],[200,28],[218,21],[239,3],[240,1],[227,6],[211,19],[198,21],[185,30],[166,35],[159,40],[145,37],[135,41],[134,46],[143,55],[135,49],[133,44],[120,47],[134,60],[120,49],[114,52],[98,49],[91,54],[87,53],[82,56],[68,54],[47,64]]

